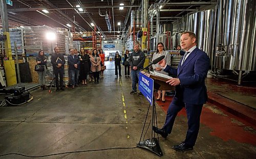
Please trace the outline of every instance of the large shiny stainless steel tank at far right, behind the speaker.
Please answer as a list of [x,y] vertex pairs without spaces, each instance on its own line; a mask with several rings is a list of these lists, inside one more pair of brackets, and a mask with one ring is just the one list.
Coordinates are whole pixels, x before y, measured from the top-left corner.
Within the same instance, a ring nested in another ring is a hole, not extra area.
[[221,0],[217,29],[217,69],[256,71],[256,1]]

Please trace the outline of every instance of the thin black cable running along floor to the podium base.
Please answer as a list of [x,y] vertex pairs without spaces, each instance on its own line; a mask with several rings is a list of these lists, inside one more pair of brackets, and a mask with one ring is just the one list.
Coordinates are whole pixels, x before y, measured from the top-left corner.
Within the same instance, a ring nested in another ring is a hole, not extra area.
[[137,148],[137,147],[117,147],[117,148],[93,149],[93,150],[83,150],[83,151],[70,151],[70,152],[53,153],[53,154],[40,155],[40,156],[30,156],[30,155],[25,155],[25,154],[20,154],[20,153],[6,153],[6,154],[0,155],[0,157],[7,156],[7,155],[20,155],[20,156],[25,156],[25,157],[39,158],[39,157],[48,157],[48,156],[61,155],[61,154],[69,154],[69,153],[104,151],[104,150],[113,150],[113,149],[134,149],[134,148]]

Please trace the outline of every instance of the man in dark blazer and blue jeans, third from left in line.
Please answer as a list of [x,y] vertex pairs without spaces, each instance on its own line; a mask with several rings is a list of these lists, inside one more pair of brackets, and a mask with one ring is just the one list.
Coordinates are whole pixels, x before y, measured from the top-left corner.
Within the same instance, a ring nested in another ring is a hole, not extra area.
[[79,75],[79,64],[80,60],[77,55],[75,55],[74,49],[70,49],[70,55],[68,56],[69,71],[71,75],[72,88],[78,86],[78,75]]

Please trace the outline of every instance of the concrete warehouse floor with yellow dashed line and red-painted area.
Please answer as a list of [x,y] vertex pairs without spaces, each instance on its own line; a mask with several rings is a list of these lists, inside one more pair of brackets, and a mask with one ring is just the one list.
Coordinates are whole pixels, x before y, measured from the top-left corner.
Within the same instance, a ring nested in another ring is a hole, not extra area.
[[[148,103],[144,97],[130,95],[131,79],[124,76],[123,66],[123,76],[116,78],[114,62],[107,64],[99,84],[88,82],[50,94],[38,89],[27,104],[0,107],[0,158],[28,158],[18,154],[45,156],[40,158],[255,158],[255,125],[209,103],[203,108],[194,150],[172,149],[186,135],[184,110],[172,134],[166,140],[159,137],[162,157],[135,148]],[[162,108],[170,100],[156,107],[159,127],[165,120]],[[149,137],[147,133],[145,139]],[[17,154],[4,155],[8,153]]]

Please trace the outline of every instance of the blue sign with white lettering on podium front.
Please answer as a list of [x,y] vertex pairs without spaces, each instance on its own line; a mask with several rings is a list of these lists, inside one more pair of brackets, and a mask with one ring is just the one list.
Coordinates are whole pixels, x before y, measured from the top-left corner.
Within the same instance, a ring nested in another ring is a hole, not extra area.
[[153,105],[154,80],[140,73],[139,90],[146,97],[148,102],[150,102],[150,104]]

